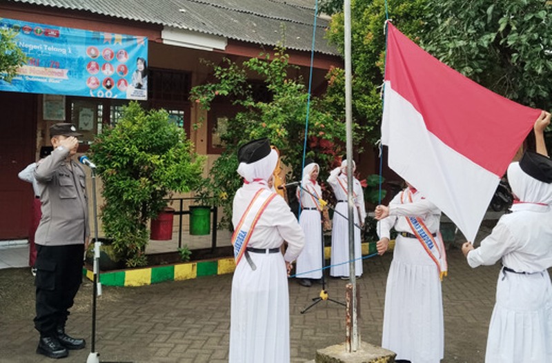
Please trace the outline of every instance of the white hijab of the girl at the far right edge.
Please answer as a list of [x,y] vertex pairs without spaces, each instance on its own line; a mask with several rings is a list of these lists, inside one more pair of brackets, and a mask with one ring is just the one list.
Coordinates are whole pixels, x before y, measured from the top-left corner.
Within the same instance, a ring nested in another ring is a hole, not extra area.
[[526,174],[520,163],[508,167],[508,181],[512,193],[520,202],[552,204],[552,184],[544,183]]

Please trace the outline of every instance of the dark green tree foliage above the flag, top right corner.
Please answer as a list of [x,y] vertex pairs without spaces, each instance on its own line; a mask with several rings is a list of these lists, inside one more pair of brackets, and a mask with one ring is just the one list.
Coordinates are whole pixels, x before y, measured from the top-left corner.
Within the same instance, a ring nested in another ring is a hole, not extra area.
[[542,0],[428,0],[422,46],[482,86],[550,110],[551,10]]

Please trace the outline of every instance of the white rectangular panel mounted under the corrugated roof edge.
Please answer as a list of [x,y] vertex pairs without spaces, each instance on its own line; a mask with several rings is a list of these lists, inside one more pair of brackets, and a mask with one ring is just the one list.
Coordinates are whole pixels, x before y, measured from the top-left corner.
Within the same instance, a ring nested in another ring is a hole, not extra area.
[[170,26],[165,26],[161,30],[161,40],[164,44],[170,46],[207,50],[210,52],[213,50],[226,50],[226,46],[228,45],[228,39],[225,37],[217,37],[216,35],[208,35]]

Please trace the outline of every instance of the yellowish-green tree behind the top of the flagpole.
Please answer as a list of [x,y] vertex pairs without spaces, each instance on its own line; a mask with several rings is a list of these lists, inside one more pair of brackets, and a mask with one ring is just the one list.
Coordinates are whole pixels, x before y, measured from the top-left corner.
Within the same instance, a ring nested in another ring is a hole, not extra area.
[[[392,1],[392,19],[405,35],[419,41],[423,26],[423,12],[426,0]],[[337,3],[334,1],[334,3]],[[357,0],[351,3],[351,63],[353,66],[353,118],[364,128],[367,141],[373,143],[380,138],[382,99],[380,97],[384,74],[386,19],[384,0]],[[327,32],[329,41],[335,43],[344,53],[344,14],[333,15]],[[335,112],[343,112],[344,70],[335,68],[329,75],[326,101]]]

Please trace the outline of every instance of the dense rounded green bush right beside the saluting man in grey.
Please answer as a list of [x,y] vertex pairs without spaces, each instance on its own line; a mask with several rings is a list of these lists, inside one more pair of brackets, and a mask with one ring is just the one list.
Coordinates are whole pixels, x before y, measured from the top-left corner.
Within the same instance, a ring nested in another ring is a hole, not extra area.
[[170,193],[197,188],[204,157],[193,152],[168,112],[146,111],[135,101],[96,137],[90,154],[103,182],[103,232],[126,266],[145,266],[148,220],[163,210]]

